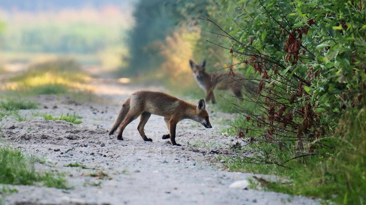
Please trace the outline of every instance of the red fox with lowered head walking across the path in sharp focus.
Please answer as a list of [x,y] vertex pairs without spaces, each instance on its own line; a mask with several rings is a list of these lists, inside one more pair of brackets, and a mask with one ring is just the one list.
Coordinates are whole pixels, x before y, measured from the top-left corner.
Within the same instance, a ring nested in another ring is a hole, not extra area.
[[144,141],[152,142],[153,140],[147,138],[144,132],[145,124],[151,114],[164,117],[169,133],[163,135],[162,139],[170,139],[173,146],[180,146],[175,141],[175,130],[177,123],[183,119],[191,119],[201,123],[205,128],[212,128],[205,100],[201,99],[197,105],[194,105],[163,92],[141,90],[132,93],[123,103],[109,135],[112,135],[119,127],[117,140],[123,140],[124,128],[141,116],[137,130]]

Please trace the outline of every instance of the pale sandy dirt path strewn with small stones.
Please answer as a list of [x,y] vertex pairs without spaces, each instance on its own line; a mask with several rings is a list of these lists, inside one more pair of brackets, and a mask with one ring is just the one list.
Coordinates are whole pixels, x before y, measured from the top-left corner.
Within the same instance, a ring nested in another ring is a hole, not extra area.
[[[123,141],[108,136],[107,130],[122,102],[132,92],[162,88],[139,88],[112,80],[95,81],[95,85],[98,102],[79,102],[68,96],[36,96],[30,99],[39,102],[41,109],[19,112],[29,120],[15,123],[11,117],[3,119],[3,127],[16,128],[0,131],[2,143],[12,143],[46,159],[46,163],[37,164],[37,169],[64,172],[74,187],[60,190],[14,186],[19,192],[8,196],[5,204],[318,204],[306,197],[229,188],[231,183],[253,176],[221,171],[218,154],[210,153],[213,149],[229,153],[229,147],[236,143],[236,139],[218,133],[219,121],[232,117],[229,114],[210,113],[212,129],[194,121],[181,121],[176,140],[182,147],[161,139],[167,128],[160,116],[152,116],[145,126],[145,133],[153,142],[141,139],[138,120],[127,126]],[[83,117],[83,123],[73,125],[42,117],[45,113],[60,116],[74,112]],[[74,162],[93,169],[64,167]],[[91,173],[107,176],[91,177]]]

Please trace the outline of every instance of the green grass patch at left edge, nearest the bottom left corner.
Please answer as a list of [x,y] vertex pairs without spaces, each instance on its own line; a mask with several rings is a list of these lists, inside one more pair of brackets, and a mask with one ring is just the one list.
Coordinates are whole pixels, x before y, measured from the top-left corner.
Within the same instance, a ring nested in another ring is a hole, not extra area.
[[54,172],[38,172],[35,159],[23,155],[20,150],[8,146],[0,147],[0,183],[12,185],[41,185],[69,189],[66,179]]

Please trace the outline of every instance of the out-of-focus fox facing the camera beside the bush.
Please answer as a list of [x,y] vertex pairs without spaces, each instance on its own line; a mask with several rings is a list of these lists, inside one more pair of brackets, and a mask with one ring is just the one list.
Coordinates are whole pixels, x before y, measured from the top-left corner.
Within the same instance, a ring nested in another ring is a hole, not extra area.
[[203,60],[202,65],[197,65],[193,60],[189,60],[189,64],[193,71],[193,76],[198,82],[198,85],[206,93],[206,102],[211,100],[212,103],[215,103],[215,97],[213,96],[214,88],[219,90],[230,89],[240,101],[243,100],[242,84],[240,84],[240,82],[224,73],[217,75],[206,73],[206,60]]

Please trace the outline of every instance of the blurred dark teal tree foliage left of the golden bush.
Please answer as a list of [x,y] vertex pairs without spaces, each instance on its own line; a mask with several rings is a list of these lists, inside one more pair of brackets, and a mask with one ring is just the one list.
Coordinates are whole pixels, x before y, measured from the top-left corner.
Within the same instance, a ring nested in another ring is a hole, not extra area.
[[[147,70],[157,70],[166,56],[159,54],[160,46],[156,43],[177,33],[183,22],[190,22],[183,27],[185,30],[194,30],[192,20],[195,16],[207,15],[208,2],[209,0],[140,0],[135,7],[136,24],[130,33],[129,66],[124,73],[136,75]],[[174,35],[173,38],[176,38],[180,34]],[[188,59],[186,61],[185,64],[188,65]]]

